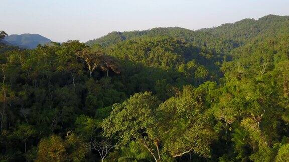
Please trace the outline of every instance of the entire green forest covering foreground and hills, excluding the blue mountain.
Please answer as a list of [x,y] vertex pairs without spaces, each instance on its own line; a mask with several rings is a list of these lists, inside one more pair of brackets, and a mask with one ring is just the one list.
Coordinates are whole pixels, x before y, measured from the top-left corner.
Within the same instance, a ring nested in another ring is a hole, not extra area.
[[289,16],[0,51],[1,160],[289,159]]

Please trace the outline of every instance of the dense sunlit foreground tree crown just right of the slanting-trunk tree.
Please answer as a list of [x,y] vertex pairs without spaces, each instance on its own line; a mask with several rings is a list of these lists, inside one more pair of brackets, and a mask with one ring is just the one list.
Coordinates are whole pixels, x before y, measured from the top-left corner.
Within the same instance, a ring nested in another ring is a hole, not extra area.
[[173,157],[190,152],[210,156],[210,145],[217,139],[196,92],[191,86],[185,86],[178,97],[169,98],[159,107],[160,141],[163,149]]

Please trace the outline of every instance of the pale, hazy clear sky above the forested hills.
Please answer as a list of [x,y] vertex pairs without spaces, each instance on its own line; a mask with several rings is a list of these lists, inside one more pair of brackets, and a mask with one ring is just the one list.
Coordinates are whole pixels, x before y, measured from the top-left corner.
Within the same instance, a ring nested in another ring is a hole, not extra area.
[[0,30],[53,41],[154,27],[200,29],[267,14],[289,15],[289,0],[0,0]]

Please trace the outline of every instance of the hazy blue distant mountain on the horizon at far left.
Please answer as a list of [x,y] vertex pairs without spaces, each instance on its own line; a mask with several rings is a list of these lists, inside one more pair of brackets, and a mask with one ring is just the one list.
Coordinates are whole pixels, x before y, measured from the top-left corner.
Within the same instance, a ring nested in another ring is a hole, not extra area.
[[24,47],[24,48],[36,48],[38,44],[47,44],[50,43],[51,40],[39,35],[39,34],[30,34],[30,33],[25,33],[25,34],[21,34],[21,35],[17,35],[17,34],[12,34],[9,36],[6,36],[5,41],[13,44],[13,45],[17,45],[20,47]]

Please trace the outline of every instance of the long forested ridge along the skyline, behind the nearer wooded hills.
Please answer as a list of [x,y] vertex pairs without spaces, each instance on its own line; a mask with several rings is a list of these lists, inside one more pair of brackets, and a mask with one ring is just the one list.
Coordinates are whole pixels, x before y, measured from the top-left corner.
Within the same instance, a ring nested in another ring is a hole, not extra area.
[[142,31],[111,32],[107,35],[89,40],[87,45],[100,44],[109,46],[119,41],[134,39],[137,37],[171,36],[189,42],[215,44],[215,41],[232,41],[235,45],[243,44],[245,40],[257,35],[273,35],[280,32],[287,32],[289,16],[266,15],[255,19],[243,19],[235,23],[226,23],[218,27],[190,30],[181,27],[158,27]]

